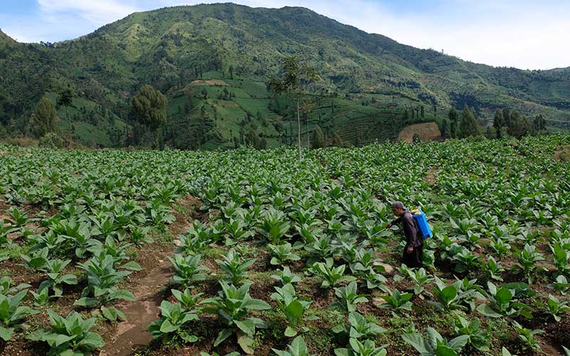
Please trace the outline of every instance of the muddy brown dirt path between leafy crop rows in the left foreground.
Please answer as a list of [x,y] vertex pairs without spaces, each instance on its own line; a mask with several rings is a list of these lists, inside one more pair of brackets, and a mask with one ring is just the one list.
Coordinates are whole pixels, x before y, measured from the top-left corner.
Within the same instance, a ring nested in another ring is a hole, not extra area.
[[162,286],[172,277],[172,264],[167,259],[138,281],[135,287],[135,298],[132,303],[120,306],[127,321],[118,323],[113,342],[108,342],[100,356],[128,356],[133,348],[145,346],[152,340],[148,332],[148,324],[160,318],[158,307],[163,299]]

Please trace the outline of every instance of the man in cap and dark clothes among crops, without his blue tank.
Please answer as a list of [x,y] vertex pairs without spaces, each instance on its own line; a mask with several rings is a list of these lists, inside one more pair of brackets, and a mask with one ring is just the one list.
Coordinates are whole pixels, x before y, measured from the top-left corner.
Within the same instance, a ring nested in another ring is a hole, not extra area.
[[418,226],[410,211],[404,208],[401,201],[394,201],[392,204],[392,212],[397,219],[388,223],[388,229],[394,224],[402,223],[405,234],[405,248],[402,256],[402,262],[410,268],[423,267],[423,238],[418,234]]

